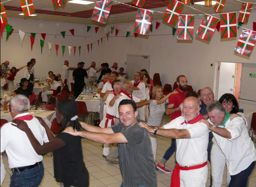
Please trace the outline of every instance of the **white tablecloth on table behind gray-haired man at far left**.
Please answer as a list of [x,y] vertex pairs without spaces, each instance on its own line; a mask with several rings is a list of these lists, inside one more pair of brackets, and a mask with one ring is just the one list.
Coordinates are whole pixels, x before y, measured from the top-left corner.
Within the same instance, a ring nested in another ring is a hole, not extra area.
[[[29,110],[31,112],[31,110]],[[38,113],[39,111],[36,110],[36,114],[32,114],[32,116],[39,116],[41,117],[46,124],[51,128],[52,121],[54,118],[56,118],[56,112],[53,110],[45,110],[44,113]],[[1,111],[1,119],[6,119],[8,122],[11,122],[13,120],[13,117],[11,116],[11,113],[4,113],[4,111]]]

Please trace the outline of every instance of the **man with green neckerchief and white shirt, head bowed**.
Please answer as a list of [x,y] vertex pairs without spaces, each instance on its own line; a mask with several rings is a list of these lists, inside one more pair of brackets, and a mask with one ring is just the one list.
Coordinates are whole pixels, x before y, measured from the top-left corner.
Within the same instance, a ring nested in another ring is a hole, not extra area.
[[229,187],[246,187],[255,166],[256,149],[242,117],[230,119],[221,103],[211,102],[206,108],[209,119],[202,120],[213,132],[211,149],[212,187],[222,185],[225,163],[231,180]]

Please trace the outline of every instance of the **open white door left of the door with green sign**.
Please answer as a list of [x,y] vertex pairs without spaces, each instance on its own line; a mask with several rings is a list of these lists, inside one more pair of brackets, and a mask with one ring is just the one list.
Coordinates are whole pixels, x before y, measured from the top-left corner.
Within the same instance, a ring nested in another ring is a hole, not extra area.
[[220,62],[217,100],[225,94],[235,92],[236,63]]

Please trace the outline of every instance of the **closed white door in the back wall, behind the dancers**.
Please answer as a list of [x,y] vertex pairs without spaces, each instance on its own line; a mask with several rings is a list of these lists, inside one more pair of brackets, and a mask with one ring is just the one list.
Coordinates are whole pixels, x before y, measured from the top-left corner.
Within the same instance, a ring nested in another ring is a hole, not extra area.
[[[149,55],[127,55],[127,74],[129,80],[134,80],[134,74],[142,69],[149,73],[150,56]],[[153,77],[151,77],[153,79]]]

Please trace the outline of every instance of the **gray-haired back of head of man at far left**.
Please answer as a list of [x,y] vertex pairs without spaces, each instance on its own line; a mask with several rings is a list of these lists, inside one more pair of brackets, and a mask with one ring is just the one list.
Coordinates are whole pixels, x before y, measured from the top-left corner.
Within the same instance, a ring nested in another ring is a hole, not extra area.
[[30,101],[25,95],[15,95],[10,101],[13,110],[18,113],[23,113],[29,110]]

